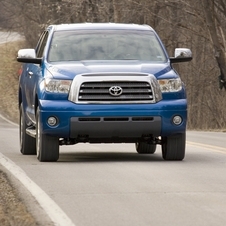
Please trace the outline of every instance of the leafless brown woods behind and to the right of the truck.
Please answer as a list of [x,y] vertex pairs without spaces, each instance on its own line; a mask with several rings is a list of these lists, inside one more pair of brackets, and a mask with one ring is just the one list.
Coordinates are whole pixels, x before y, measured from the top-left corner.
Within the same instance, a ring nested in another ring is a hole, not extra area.
[[175,65],[187,87],[189,129],[226,128],[225,0],[0,0],[0,27],[21,32],[34,47],[49,24],[149,24],[169,55],[187,47],[193,61]]

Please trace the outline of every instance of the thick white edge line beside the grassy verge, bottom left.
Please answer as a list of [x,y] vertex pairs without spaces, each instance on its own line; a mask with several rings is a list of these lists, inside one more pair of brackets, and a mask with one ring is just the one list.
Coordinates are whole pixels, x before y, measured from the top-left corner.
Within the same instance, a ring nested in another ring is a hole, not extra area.
[[10,173],[28,189],[49,218],[53,221],[54,225],[75,226],[63,210],[37,184],[35,184],[20,167],[2,153],[0,153],[0,164],[9,170]]

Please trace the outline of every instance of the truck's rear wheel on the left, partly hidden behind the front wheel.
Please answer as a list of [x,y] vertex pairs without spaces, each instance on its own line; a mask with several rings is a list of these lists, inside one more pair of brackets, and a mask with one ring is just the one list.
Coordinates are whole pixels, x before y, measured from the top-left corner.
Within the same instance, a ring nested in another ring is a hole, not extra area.
[[23,155],[35,155],[35,138],[26,133],[28,125],[26,124],[22,103],[20,104],[20,152]]

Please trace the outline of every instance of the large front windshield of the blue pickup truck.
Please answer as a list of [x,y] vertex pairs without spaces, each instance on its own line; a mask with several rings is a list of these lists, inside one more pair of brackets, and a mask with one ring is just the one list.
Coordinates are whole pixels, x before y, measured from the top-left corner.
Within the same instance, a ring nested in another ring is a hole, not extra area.
[[54,33],[48,60],[141,60],[165,62],[166,56],[152,31],[83,30]]

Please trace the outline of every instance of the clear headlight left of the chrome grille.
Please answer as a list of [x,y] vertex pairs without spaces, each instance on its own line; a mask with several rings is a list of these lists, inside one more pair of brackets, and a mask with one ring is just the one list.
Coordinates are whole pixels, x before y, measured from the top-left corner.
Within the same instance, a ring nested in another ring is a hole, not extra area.
[[45,90],[51,93],[68,93],[71,80],[45,79]]

